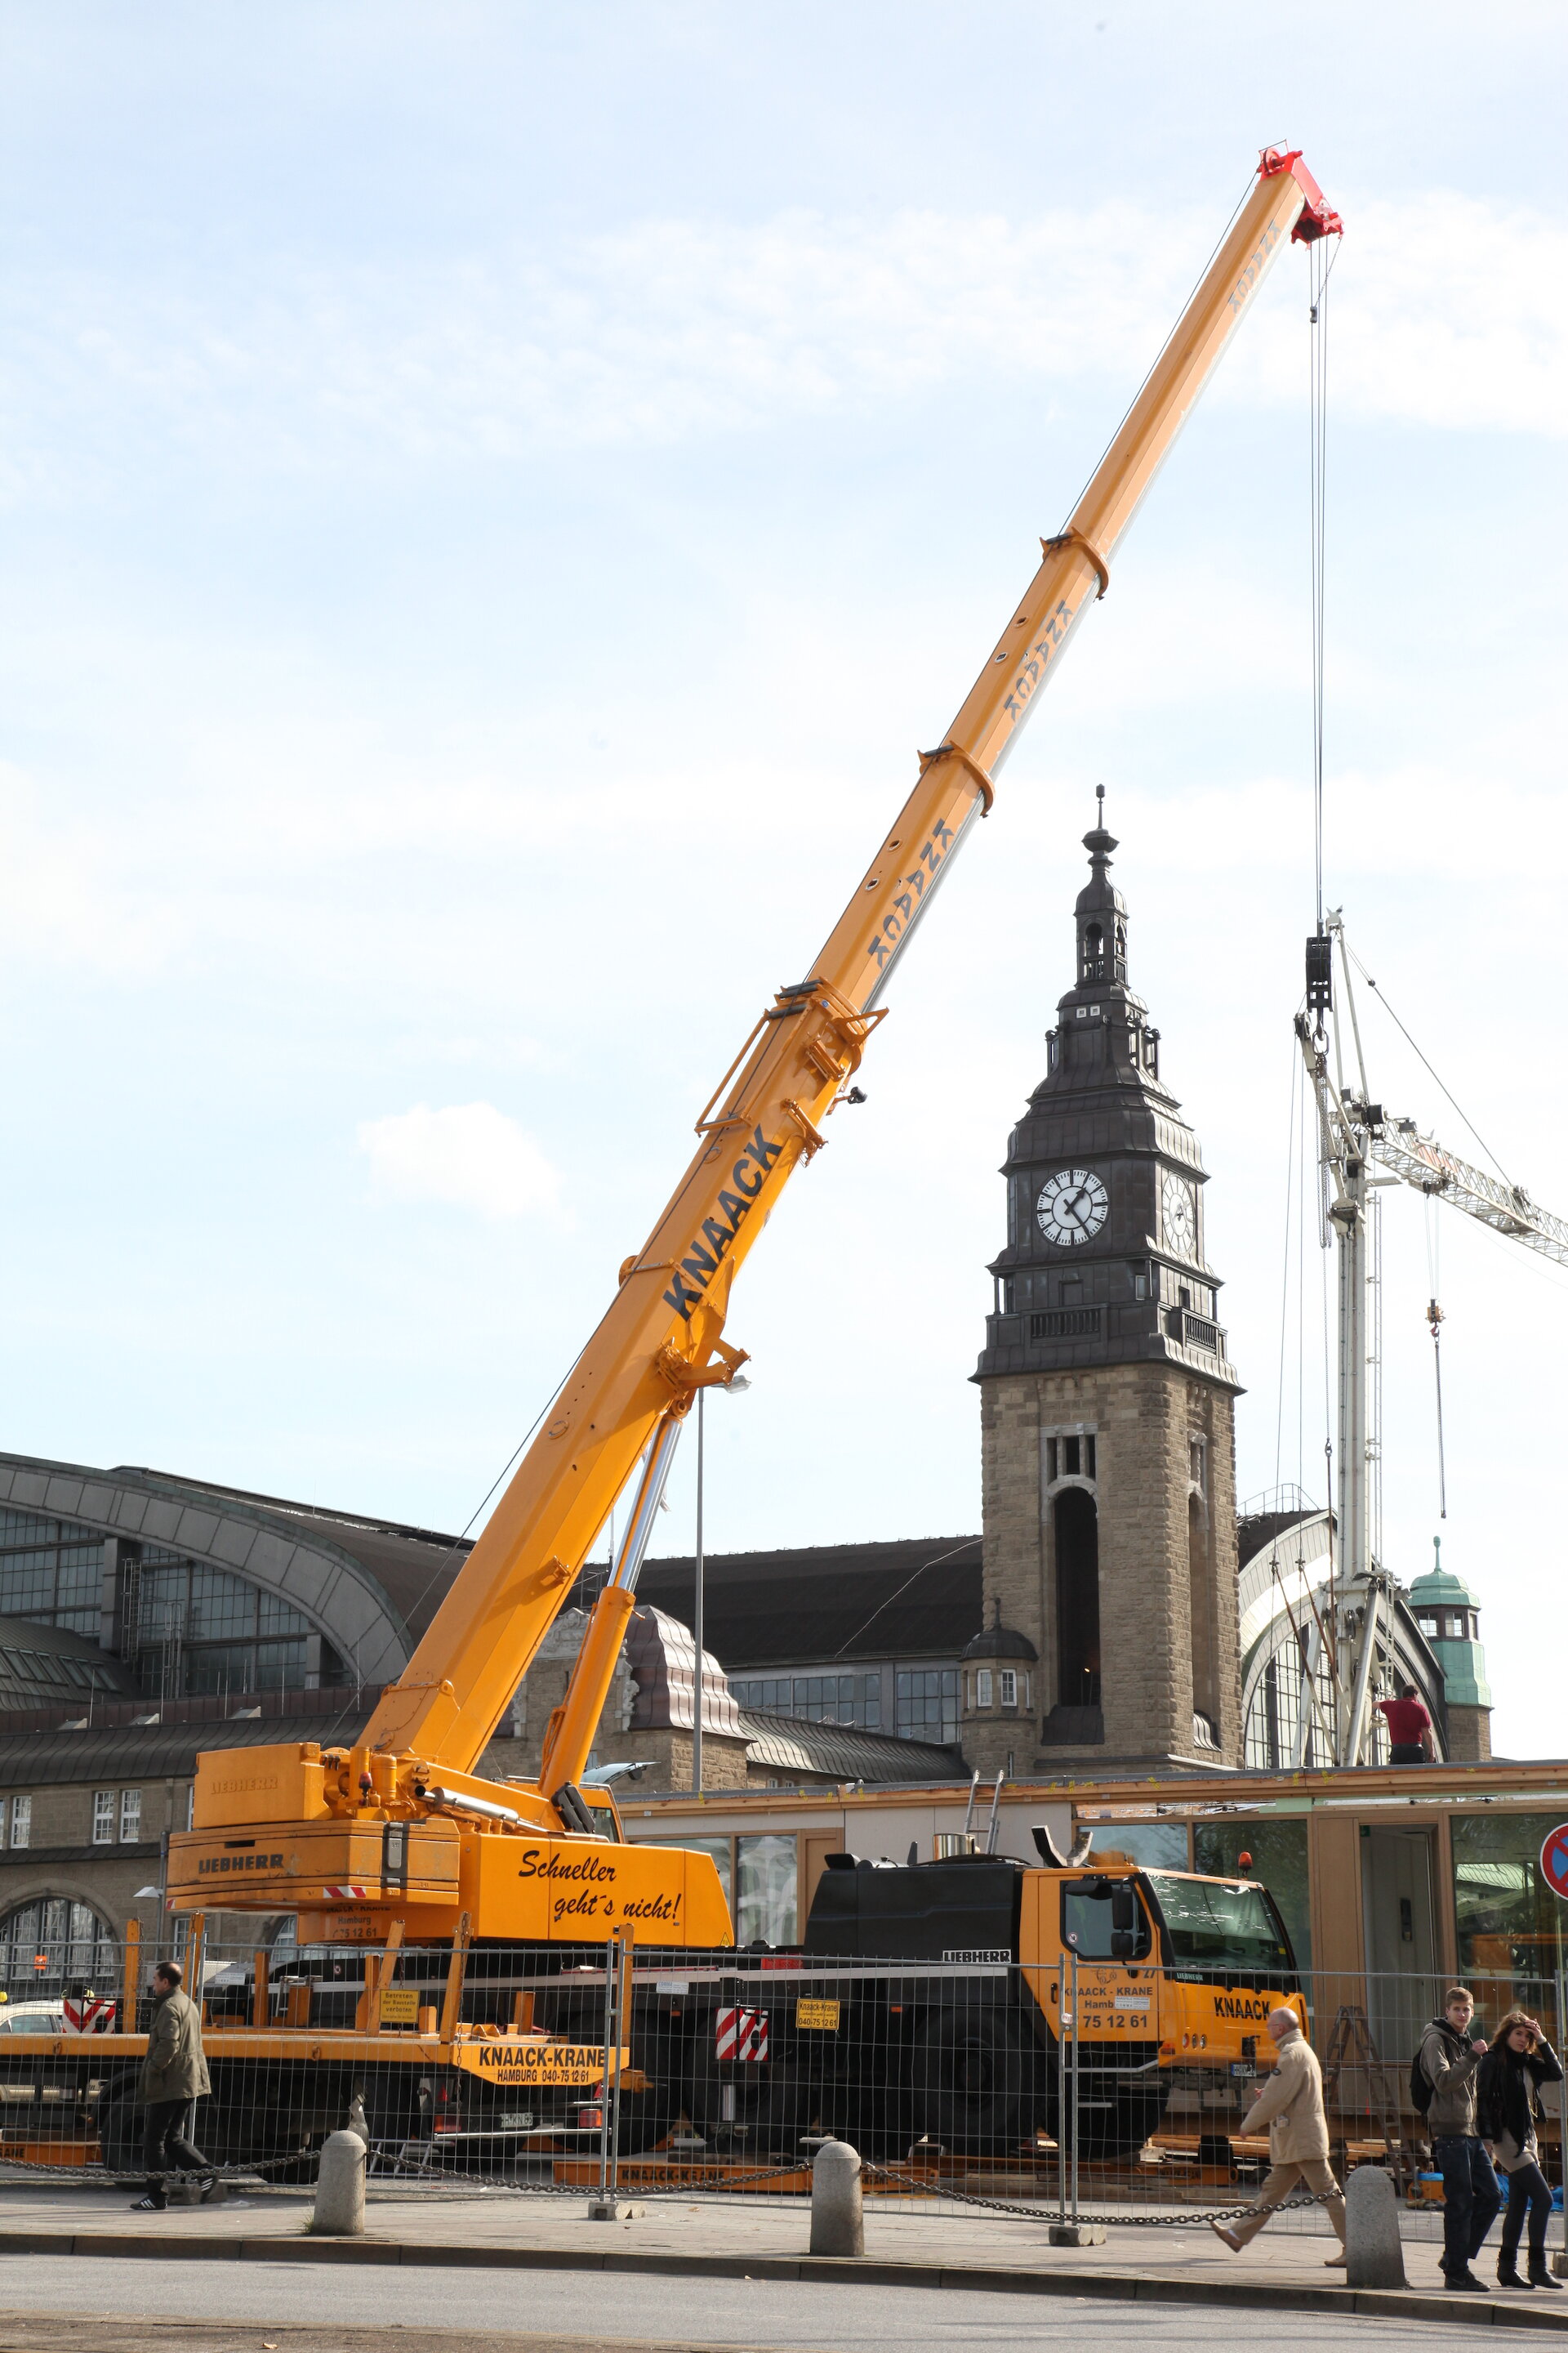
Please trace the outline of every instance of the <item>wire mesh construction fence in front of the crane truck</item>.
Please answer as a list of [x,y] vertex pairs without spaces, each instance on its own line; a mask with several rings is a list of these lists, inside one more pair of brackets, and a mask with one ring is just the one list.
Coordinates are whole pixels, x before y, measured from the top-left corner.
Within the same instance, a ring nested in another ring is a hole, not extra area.
[[[0,2005],[0,2177],[141,2174],[150,1960],[108,1958]],[[797,2200],[816,2148],[842,2139],[884,2207],[1199,2226],[1244,2212],[1267,2174],[1267,2129],[1248,2134],[1246,2111],[1272,2061],[1267,2014],[1288,2005],[1324,2066],[1340,2179],[1380,2165],[1413,2235],[1441,2228],[1410,2097],[1436,1977],[200,1934],[186,1965],[212,2073],[195,2139],[249,2184],[313,2181],[327,2134],[350,2127],[371,2184],[404,2193]],[[1523,2005],[1561,2047],[1561,1984],[1512,1977],[1476,1995],[1476,2033]],[[1556,2186],[1561,2099],[1544,2104]],[[1312,2200],[1281,2219],[1328,2228]]]

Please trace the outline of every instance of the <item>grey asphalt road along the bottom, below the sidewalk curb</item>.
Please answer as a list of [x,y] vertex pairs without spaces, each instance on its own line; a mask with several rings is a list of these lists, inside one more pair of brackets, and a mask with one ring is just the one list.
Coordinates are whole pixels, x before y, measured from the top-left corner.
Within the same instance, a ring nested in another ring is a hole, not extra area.
[[[167,2322],[167,2325],[160,2325]],[[308,2268],[301,2264],[0,2261],[0,2353],[597,2353],[621,2346],[778,2346],[910,2353],[1124,2353],[1145,2346],[1335,2353],[1373,2341],[1432,2353],[1432,2327],[1307,2313],[1126,2304],[929,2287],[691,2280],[602,2271]],[[364,2334],[360,2334],[364,2332]],[[505,2332],[498,2339],[489,2332]],[[1467,2337],[1455,2337],[1462,2353]]]

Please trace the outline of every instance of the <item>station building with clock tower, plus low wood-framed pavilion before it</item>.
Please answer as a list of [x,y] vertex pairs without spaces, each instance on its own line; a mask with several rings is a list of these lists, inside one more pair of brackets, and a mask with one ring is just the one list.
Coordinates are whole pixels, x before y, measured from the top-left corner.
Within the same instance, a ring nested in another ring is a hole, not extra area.
[[[1441,1560],[1385,1574],[1373,1664],[1373,1697],[1427,1699],[1436,1762],[1328,1769],[1331,1515],[1237,1508],[1201,1146],[1131,988],[1117,842],[1098,824],[1084,847],[1072,981],[1001,1167],[983,1527],[708,1555],[701,1673],[696,1565],[649,1560],[592,1767],[637,1769],[632,1835],[715,1852],[743,1941],[795,1937],[837,1847],[961,1835],[980,1774],[999,1852],[1030,1859],[1048,1819],[1140,1861],[1251,1854],[1319,1967],[1535,1965],[1554,1915],[1528,1849],[1568,1814],[1563,1769],[1488,1765],[1476,1598]],[[374,1515],[0,1454],[0,1991],[103,1974],[132,1918],[158,1939],[197,1753],[353,1741],[465,1555]],[[491,1777],[536,1769],[602,1577],[512,1697]]]

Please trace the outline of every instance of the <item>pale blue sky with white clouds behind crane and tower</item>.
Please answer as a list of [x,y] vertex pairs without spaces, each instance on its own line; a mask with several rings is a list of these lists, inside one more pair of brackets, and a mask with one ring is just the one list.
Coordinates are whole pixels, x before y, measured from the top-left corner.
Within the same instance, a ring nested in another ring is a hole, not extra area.
[[[1432,1066],[1363,993],[1368,1078],[1568,1214],[1566,66],[1441,0],[0,5],[0,1447],[482,1513],[1265,141],[1347,226],[1326,894]],[[1239,1492],[1324,1501],[1307,367],[1295,249],[736,1285],[712,1548],[978,1527],[1095,784]],[[1385,1558],[1443,1534],[1512,1755],[1568,1748],[1566,1308],[1385,1195]]]

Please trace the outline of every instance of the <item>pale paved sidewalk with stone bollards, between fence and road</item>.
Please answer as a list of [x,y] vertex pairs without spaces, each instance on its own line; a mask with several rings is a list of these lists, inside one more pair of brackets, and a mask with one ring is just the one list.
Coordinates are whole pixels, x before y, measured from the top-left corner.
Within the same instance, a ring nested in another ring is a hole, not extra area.
[[[865,2261],[809,2257],[809,2207],[719,2198],[651,2200],[630,2221],[585,2219],[585,2195],[505,2191],[407,2195],[371,2188],[367,2235],[306,2233],[308,2191],[252,2191],[219,2207],[132,2214],[125,2191],[0,2184],[0,2254],[153,2257],[303,2264],[505,2266],[649,2271],[708,2278],[865,2280],[905,2287],[1027,2289],[1164,2304],[1248,2304],[1291,2311],[1387,2313],[1481,2327],[1568,2332],[1568,2294],[1450,2297],[1436,2254],[1406,2245],[1410,2289],[1354,2292],[1326,2268],[1328,2233],[1272,2226],[1234,2257],[1206,2226],[1112,2224],[1105,2247],[1051,2247],[1048,2214],[877,2212]],[[1486,2261],[1486,2257],[1483,2257]],[[1495,2257],[1493,2257],[1495,2261]]]

